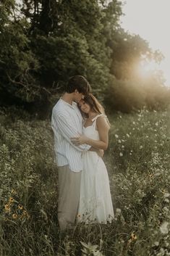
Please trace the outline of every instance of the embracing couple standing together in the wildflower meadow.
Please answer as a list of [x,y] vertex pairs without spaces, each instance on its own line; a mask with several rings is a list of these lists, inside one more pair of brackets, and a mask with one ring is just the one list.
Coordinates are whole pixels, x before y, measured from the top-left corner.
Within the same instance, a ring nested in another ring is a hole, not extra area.
[[101,158],[109,143],[109,120],[82,75],[69,79],[52,111],[59,168],[58,220],[61,231],[75,223],[111,223],[109,177]]

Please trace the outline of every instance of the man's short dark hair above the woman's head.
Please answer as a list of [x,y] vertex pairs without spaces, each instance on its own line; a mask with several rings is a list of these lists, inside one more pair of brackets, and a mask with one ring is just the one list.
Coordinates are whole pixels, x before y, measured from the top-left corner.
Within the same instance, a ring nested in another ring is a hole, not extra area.
[[82,75],[74,75],[69,78],[65,91],[69,94],[77,90],[79,93],[88,94],[91,91],[91,86],[88,80]]

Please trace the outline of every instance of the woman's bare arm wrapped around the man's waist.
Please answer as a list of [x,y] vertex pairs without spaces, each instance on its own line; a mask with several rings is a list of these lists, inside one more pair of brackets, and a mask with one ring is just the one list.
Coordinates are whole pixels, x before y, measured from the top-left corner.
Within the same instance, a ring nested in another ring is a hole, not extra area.
[[72,143],[75,145],[88,144],[93,146],[95,149],[106,150],[109,144],[109,125],[105,117],[98,117],[96,120],[96,126],[100,140],[90,139],[87,136],[80,134],[79,137],[72,138]]

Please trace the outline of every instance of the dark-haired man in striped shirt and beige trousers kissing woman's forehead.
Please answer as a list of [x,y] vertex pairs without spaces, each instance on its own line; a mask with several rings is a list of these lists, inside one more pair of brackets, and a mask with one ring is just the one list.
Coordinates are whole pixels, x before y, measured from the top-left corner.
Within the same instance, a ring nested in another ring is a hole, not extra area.
[[52,111],[51,126],[54,131],[54,151],[59,167],[58,220],[61,231],[75,224],[80,196],[82,170],[81,154],[90,146],[75,146],[70,138],[82,133],[82,115],[75,102],[80,102],[90,92],[90,85],[82,75],[69,79],[65,93]]

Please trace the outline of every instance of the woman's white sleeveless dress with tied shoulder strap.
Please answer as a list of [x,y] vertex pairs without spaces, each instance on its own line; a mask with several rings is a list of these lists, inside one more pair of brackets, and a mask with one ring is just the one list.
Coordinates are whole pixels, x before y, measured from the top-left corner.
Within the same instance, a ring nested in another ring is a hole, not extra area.
[[[83,128],[85,136],[99,140],[95,124],[97,118],[101,115],[93,118],[93,125]],[[77,222],[111,223],[114,218],[114,210],[106,165],[96,152],[83,152],[82,160],[83,170]]]

